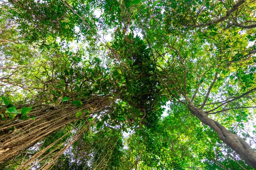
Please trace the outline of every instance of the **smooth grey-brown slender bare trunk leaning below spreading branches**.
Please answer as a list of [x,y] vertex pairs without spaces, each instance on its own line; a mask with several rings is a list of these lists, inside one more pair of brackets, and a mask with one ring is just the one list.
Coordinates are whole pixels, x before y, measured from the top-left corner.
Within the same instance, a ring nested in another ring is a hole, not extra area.
[[218,134],[219,139],[221,139],[227,146],[234,150],[239,156],[244,159],[250,166],[256,169],[256,150],[253,150],[247,142],[244,141],[241,137],[227,130],[224,126],[220,125],[213,119],[210,119],[208,115],[195,105],[192,102],[189,102],[187,106],[191,113],[196,116],[201,122],[212,129]]

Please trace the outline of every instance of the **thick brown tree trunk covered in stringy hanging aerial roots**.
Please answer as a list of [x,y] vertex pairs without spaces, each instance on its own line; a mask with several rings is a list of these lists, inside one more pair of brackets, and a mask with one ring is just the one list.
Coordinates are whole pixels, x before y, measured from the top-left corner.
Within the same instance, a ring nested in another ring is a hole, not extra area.
[[[83,115],[80,118],[87,118],[91,114],[104,110],[109,105],[108,98],[93,98],[87,101],[82,108],[76,108],[74,105],[59,105],[57,110],[44,113],[35,113],[35,120],[28,119],[24,121],[12,120],[0,127],[0,164],[12,159],[14,156],[23,153],[27,148],[40,142],[45,137],[51,135],[61,127],[78,120],[76,113],[82,110]],[[90,115],[86,115],[84,110],[89,110]],[[9,132],[10,127],[15,130]]]

